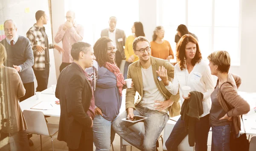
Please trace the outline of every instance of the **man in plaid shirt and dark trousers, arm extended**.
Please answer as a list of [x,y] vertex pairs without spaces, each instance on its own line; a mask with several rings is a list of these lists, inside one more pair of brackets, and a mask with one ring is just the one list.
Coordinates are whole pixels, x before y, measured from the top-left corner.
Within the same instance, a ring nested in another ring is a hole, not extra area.
[[37,11],[35,13],[35,19],[36,23],[26,33],[26,37],[30,40],[35,57],[33,70],[38,84],[36,91],[43,91],[47,89],[48,85],[50,67],[49,49],[55,48],[59,53],[63,53],[64,50],[58,45],[49,44],[44,28],[44,25],[46,25],[48,21],[47,14],[41,10]]

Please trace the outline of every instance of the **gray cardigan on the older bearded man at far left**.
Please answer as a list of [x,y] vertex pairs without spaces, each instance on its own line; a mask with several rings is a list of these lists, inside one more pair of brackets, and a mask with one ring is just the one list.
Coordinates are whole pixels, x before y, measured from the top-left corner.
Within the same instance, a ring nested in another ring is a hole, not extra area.
[[34,56],[30,41],[27,37],[19,36],[14,46],[7,43],[6,39],[0,43],[6,48],[7,60],[5,66],[13,68],[21,66],[22,70],[19,72],[23,83],[34,82],[34,72],[32,66],[34,65]]

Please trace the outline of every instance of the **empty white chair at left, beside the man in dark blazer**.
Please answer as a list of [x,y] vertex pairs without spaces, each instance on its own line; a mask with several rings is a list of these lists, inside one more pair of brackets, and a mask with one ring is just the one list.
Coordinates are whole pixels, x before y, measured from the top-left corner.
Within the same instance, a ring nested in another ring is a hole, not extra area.
[[[41,111],[28,111],[24,110],[23,115],[27,123],[27,133],[40,135],[41,150],[42,150],[42,136],[51,137],[58,132],[58,124],[46,123],[44,118],[44,113]],[[53,140],[52,140],[52,151],[53,150]]]

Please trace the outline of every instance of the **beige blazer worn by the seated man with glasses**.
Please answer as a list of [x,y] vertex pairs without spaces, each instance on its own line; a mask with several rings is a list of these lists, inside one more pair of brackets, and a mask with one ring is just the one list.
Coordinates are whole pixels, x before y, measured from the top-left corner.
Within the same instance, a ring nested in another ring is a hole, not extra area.
[[[153,70],[154,81],[157,84],[157,88],[167,99],[171,99],[174,101],[174,103],[168,108],[169,116],[175,117],[177,115],[180,115],[180,102],[179,102],[180,94],[178,93],[176,95],[172,95],[166,89],[165,85],[163,84],[163,81],[157,80],[157,72],[156,72],[159,66],[164,66],[167,69],[169,80],[172,80],[172,78],[174,77],[174,66],[172,66],[172,64],[167,60],[155,58],[152,56],[151,56],[151,65]],[[126,109],[135,108],[135,105],[140,103],[140,101],[143,98],[143,80],[142,80],[140,60],[132,63],[129,66],[127,78],[132,79],[134,83],[134,87],[126,89],[126,98],[125,98]],[[134,104],[134,97],[135,97],[136,91],[139,92],[140,97]]]

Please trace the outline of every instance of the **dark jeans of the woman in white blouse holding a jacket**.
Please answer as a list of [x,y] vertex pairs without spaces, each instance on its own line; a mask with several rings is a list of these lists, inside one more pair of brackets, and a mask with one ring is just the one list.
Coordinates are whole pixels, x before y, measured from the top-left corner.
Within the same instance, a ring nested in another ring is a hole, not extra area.
[[[207,151],[208,134],[210,130],[209,114],[200,118],[200,121],[195,123],[195,150]],[[188,135],[188,131],[185,131],[185,121],[179,120],[172,129],[172,133],[166,140],[167,151],[178,151],[178,145]]]

